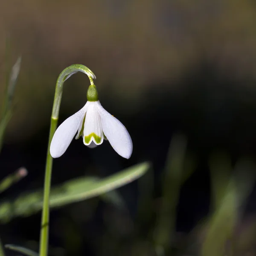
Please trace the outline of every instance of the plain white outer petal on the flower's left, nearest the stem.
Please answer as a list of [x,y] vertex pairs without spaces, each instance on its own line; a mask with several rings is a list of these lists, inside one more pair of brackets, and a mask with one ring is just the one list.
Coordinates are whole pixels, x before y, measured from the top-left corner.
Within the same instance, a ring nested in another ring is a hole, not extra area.
[[67,150],[79,128],[81,119],[84,118],[87,110],[87,103],[81,110],[66,119],[55,131],[50,145],[50,154],[53,158],[62,156]]

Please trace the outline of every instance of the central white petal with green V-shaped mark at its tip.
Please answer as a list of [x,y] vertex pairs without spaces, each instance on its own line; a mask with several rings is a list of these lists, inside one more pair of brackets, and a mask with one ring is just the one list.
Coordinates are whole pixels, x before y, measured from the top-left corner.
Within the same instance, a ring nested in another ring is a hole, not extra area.
[[90,145],[91,142],[100,145],[103,139],[102,123],[96,102],[89,102],[84,121],[84,145]]

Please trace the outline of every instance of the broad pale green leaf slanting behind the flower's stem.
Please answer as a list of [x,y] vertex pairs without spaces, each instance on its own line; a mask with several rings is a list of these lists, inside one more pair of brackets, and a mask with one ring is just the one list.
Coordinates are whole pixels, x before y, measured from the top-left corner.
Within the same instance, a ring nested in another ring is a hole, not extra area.
[[[66,204],[103,195],[141,177],[148,171],[149,167],[150,164],[144,162],[103,179],[97,177],[80,177],[69,180],[60,186],[52,188],[50,207],[61,207]],[[111,197],[113,199],[113,194],[107,195],[107,197],[108,199]],[[119,205],[122,204],[120,198],[115,198],[114,200]],[[14,201],[4,201],[0,204],[0,221],[8,222],[17,216],[31,215],[39,211],[42,208],[42,204],[43,194],[41,190],[23,193]]]

